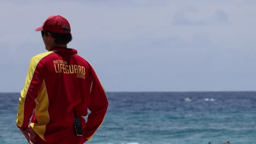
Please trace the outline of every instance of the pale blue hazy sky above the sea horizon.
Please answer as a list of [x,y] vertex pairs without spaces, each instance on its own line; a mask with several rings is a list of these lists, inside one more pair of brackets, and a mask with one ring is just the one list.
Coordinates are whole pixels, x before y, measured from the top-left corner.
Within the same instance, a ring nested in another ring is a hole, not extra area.
[[256,91],[256,1],[0,1],[0,92],[20,92],[50,15],[107,92]]

